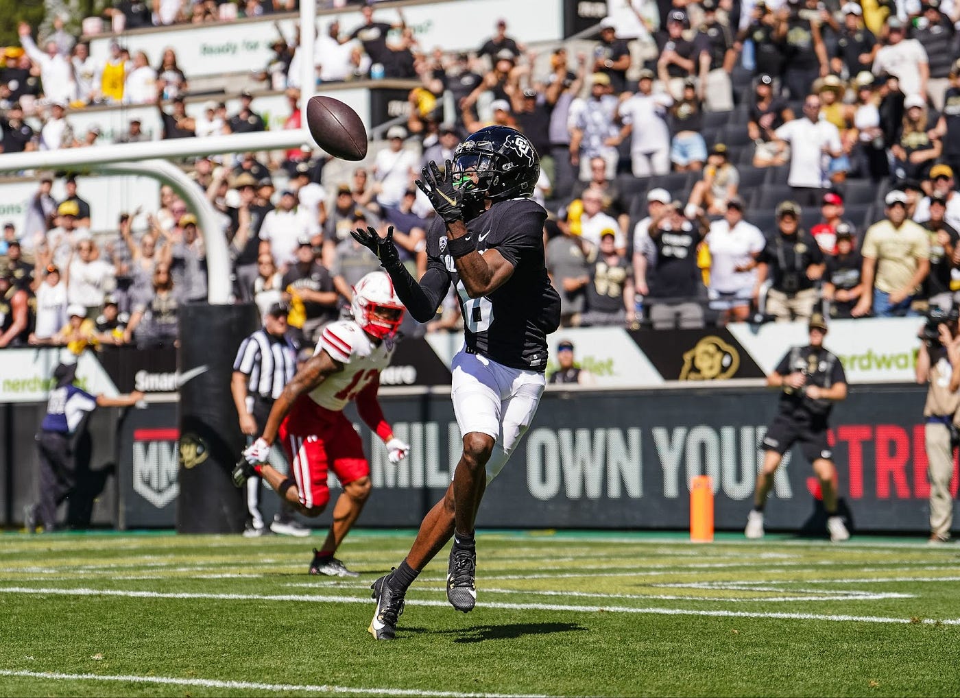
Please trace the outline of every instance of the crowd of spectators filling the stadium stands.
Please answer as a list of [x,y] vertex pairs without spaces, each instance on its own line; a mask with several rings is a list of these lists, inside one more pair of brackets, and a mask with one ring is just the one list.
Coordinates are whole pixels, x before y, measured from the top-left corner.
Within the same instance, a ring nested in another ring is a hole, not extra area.
[[[324,177],[325,157],[307,149],[189,163],[221,214],[236,299],[261,308],[288,301],[293,331],[310,342],[377,268],[348,234],[360,226],[394,226],[404,262],[421,273],[433,212],[414,185],[420,167],[443,163],[468,133],[505,124],[540,152],[536,198],[550,213],[546,259],[565,326],[699,327],[815,311],[856,318],[952,303],[960,63],[949,13],[960,4],[927,0],[902,16],[815,0],[628,5],[600,22],[592,51],[576,55],[561,46],[540,56],[505,20],[460,53],[422,52],[394,10],[374,17],[362,8],[349,34],[325,27],[319,80],[383,70],[419,86],[406,124],[342,179]],[[72,132],[52,90],[121,102],[132,90],[161,108],[166,138],[265,128],[250,92],[234,114],[211,101],[204,116],[187,116],[187,76],[173,50],[153,68],[142,55],[128,63],[117,46],[124,80],[104,67],[81,80],[69,66],[84,66],[82,43],[48,37],[39,54],[29,29],[21,36],[50,116],[28,135],[22,105],[8,100],[7,152],[88,140]],[[278,41],[275,53],[259,77],[287,90],[287,127],[299,128],[296,50]],[[143,139],[139,127],[117,140]],[[6,294],[26,293],[36,315],[32,331],[7,321],[0,346],[76,343],[84,327],[88,344],[172,344],[178,305],[206,293],[194,213],[164,187],[159,210],[132,211],[115,233],[93,235],[76,182],[61,202],[51,184],[40,182],[26,228],[5,230],[0,242]],[[457,307],[448,298],[433,323],[404,329],[456,328]],[[89,323],[73,324],[81,309]]]

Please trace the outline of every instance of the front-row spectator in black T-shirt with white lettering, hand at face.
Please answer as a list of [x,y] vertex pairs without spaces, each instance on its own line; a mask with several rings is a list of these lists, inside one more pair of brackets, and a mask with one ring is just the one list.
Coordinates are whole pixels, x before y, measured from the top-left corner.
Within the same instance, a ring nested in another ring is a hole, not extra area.
[[651,226],[650,240],[655,248],[653,268],[647,272],[649,293],[644,304],[649,306],[649,320],[654,329],[684,329],[704,326],[703,276],[697,267],[697,247],[709,224],[700,217],[691,221],[684,217],[684,205],[675,201]]

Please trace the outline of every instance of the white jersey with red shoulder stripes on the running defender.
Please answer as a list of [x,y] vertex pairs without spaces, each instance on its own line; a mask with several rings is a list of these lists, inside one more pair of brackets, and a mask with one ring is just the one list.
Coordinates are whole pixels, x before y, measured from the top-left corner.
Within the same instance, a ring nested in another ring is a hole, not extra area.
[[352,320],[326,325],[314,354],[324,349],[344,365],[344,370],[328,375],[323,383],[310,391],[310,398],[328,410],[343,410],[378,373],[390,365],[395,346],[390,339],[383,340],[379,346],[374,345],[370,335]]

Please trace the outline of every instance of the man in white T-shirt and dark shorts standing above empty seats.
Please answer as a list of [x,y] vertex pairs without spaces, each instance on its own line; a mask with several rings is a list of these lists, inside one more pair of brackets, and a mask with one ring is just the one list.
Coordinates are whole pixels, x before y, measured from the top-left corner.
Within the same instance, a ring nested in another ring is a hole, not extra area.
[[774,132],[780,151],[785,143],[790,148],[790,174],[787,183],[793,187],[800,205],[819,205],[824,189],[829,186],[831,157],[843,154],[837,127],[820,118],[820,96],[808,94],[804,100],[804,118],[788,121]]

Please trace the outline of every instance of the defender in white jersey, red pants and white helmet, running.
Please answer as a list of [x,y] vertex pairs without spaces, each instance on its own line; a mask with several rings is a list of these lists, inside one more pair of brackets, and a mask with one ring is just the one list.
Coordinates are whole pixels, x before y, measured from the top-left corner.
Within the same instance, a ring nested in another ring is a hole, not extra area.
[[[393,281],[372,272],[353,287],[353,320],[324,327],[313,356],[287,383],[274,402],[263,434],[243,452],[233,469],[233,483],[242,487],[257,474],[301,514],[317,517],[330,498],[327,470],[333,470],[344,492],[333,508],[333,523],[324,546],[314,550],[311,574],[356,577],[334,557],[340,543],[370,496],[370,464],[360,437],[344,416],[350,400],[360,419],[387,445],[392,463],[402,460],[410,446],[394,436],[383,417],[377,390],[380,372],[394,353],[394,337],[403,318],[403,304]],[[279,442],[291,476],[268,463],[271,447]]]

